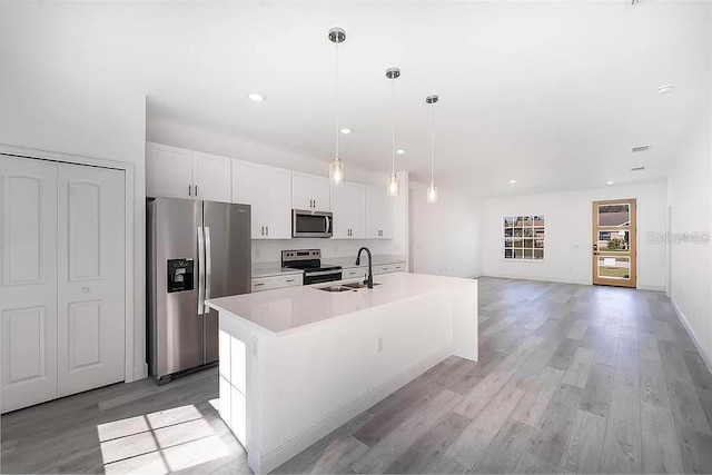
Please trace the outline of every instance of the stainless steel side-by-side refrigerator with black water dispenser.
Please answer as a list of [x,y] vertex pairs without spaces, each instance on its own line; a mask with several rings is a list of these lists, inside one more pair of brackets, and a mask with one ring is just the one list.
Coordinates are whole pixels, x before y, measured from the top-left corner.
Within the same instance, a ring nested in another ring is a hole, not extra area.
[[250,207],[156,198],[147,201],[148,355],[166,383],[217,362],[214,297],[250,291]]

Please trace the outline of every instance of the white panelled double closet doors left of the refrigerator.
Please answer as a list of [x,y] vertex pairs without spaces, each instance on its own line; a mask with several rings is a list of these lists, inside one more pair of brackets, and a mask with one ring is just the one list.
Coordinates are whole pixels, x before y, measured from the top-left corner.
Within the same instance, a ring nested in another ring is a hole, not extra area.
[[0,157],[0,412],[123,380],[123,179]]

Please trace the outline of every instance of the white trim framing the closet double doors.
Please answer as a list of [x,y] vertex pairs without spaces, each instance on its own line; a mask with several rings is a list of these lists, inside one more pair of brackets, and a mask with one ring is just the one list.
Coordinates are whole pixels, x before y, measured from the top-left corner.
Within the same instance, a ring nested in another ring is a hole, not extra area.
[[[100,158],[82,157],[79,155],[57,154],[47,150],[36,150],[20,147],[12,147],[0,144],[0,154],[14,157],[51,160],[62,164],[76,164],[86,165],[90,167],[111,168],[116,170],[123,170],[125,172],[125,209],[126,209],[126,226],[125,226],[125,241],[126,241],[126,299],[125,299],[125,367],[123,379],[126,383],[130,383],[137,379],[145,378],[140,376],[144,370],[136,373],[137,368],[142,368],[146,363],[141,363],[135,366],[134,362],[134,318],[135,318],[135,296],[134,296],[134,187],[136,176],[134,172],[134,164],[126,161],[103,160]],[[148,374],[148,369],[146,369]]]

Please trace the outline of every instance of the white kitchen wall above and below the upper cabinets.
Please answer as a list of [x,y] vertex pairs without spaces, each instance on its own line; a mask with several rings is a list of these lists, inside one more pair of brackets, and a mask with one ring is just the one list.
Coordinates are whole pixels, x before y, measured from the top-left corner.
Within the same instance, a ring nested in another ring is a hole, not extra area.
[[[149,141],[181,147],[224,157],[237,158],[256,164],[283,167],[289,170],[303,171],[326,176],[328,164],[325,160],[305,157],[289,150],[277,147],[256,144],[244,138],[229,137],[214,131],[198,129],[176,122],[151,118],[147,122]],[[388,171],[384,167],[383,175],[358,170],[348,165],[346,158],[346,179],[373,186],[385,187]],[[403,190],[407,190],[407,172],[399,171]],[[253,263],[279,261],[280,251],[285,249],[322,249],[323,257],[350,257],[356,256],[358,248],[367,246],[374,254],[407,254],[407,236],[404,228],[407,226],[402,216],[407,210],[407,194],[400,194],[395,202],[394,216],[397,217],[393,239],[289,239],[289,240],[253,240]]]

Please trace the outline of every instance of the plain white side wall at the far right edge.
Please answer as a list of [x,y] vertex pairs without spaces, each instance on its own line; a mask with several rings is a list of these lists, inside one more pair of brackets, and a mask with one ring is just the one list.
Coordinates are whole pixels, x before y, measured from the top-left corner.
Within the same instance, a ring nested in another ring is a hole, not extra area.
[[668,180],[670,207],[670,297],[712,367],[712,244],[681,241],[681,234],[710,232],[710,161],[712,150],[710,113],[690,131],[680,158]]

